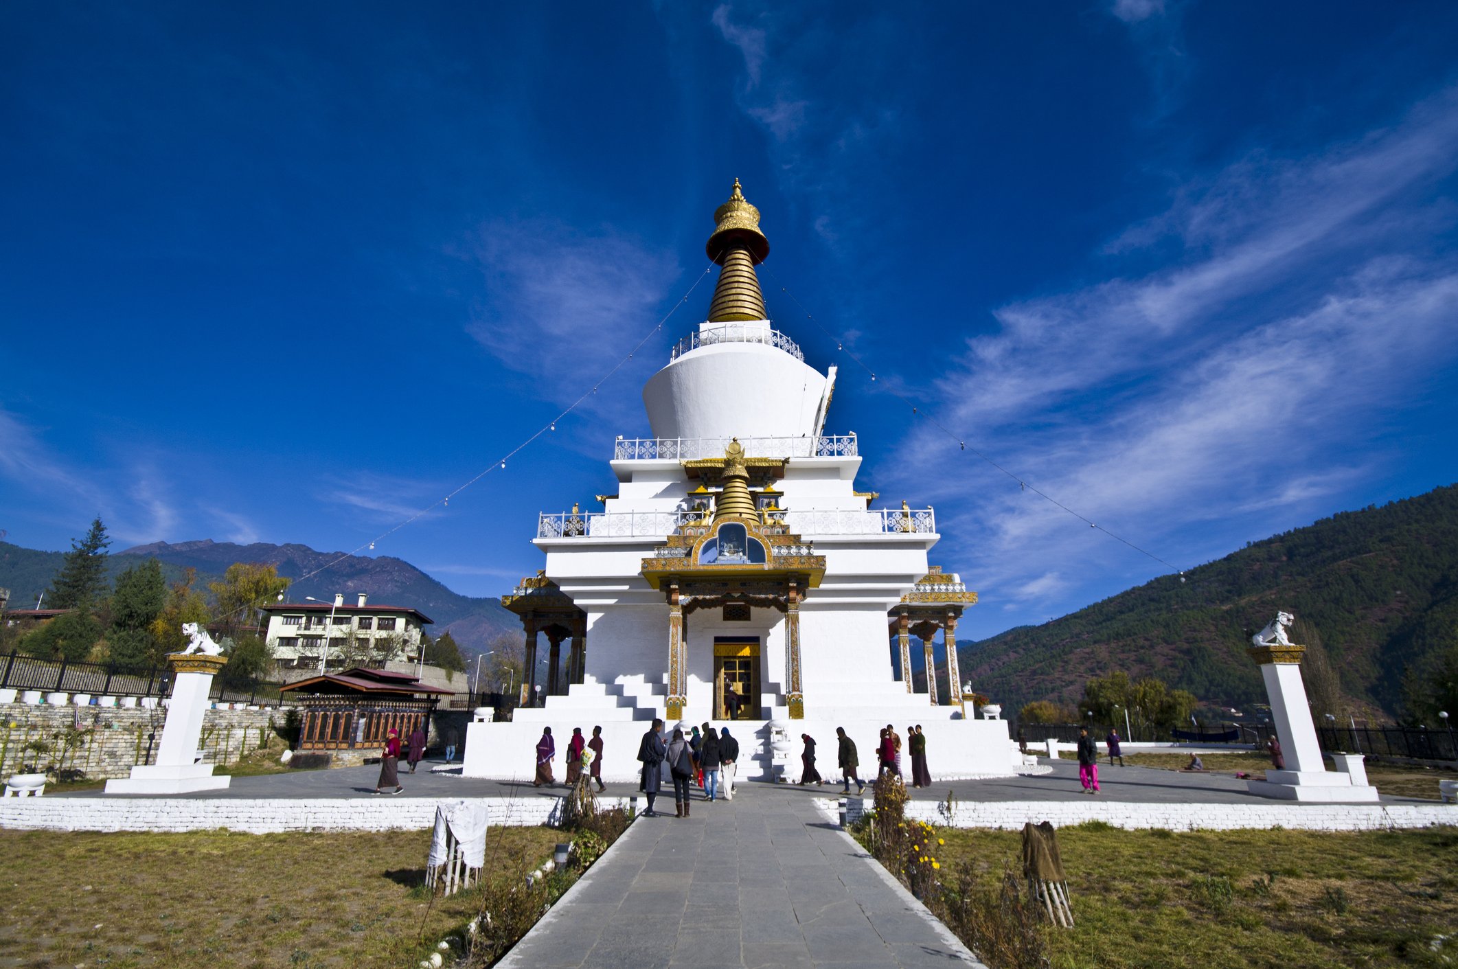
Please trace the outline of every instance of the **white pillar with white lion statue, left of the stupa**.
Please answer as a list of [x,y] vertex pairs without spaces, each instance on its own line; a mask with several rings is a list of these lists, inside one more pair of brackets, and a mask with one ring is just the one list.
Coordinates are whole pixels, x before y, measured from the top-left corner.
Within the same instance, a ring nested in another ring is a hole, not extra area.
[[233,780],[213,777],[213,765],[201,764],[197,749],[213,676],[227,664],[227,657],[198,624],[184,624],[182,632],[190,638],[188,647],[168,654],[172,698],[162,726],[162,743],[157,745],[157,762],[131,768],[131,777],[106,781],[108,794],[187,794],[227,787]]

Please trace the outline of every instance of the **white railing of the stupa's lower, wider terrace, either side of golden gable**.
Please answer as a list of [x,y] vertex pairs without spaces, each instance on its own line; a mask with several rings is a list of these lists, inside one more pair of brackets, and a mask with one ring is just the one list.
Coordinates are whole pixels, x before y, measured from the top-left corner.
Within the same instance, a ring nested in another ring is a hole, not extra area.
[[[585,511],[542,513],[537,538],[665,538],[678,526],[698,522],[700,511]],[[872,511],[786,511],[792,532],[816,535],[898,535],[936,532],[932,509],[879,509]]]

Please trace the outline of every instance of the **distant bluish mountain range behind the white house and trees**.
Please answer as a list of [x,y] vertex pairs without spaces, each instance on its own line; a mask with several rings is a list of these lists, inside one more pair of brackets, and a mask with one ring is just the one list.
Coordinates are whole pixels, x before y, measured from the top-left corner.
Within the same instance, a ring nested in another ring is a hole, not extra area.
[[[10,606],[34,606],[60,570],[63,558],[64,552],[42,552],[0,542],[0,586],[10,589]],[[330,602],[335,593],[344,593],[346,602],[354,602],[356,593],[363,592],[369,595],[370,602],[379,605],[420,609],[434,619],[434,625],[429,627],[433,637],[449,631],[462,650],[472,654],[484,650],[497,635],[518,632],[522,628],[521,621],[502,608],[500,599],[462,596],[410,562],[391,555],[369,558],[344,552],[318,552],[308,545],[267,542],[236,545],[201,539],[152,542],[106,558],[108,574],[112,578],[140,558],[156,558],[162,562],[168,581],[176,581],[185,568],[195,568],[197,587],[204,593],[207,583],[219,580],[233,562],[274,565],[280,576],[295,580],[287,593],[292,602],[303,602],[305,596]],[[299,578],[330,562],[335,564],[322,574]]]

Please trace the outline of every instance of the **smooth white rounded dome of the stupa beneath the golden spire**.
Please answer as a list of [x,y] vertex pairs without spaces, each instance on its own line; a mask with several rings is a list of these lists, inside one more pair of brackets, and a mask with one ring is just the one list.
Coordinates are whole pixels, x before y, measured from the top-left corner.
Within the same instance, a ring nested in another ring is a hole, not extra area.
[[685,353],[643,388],[655,437],[800,437],[815,433],[825,377],[764,344]]

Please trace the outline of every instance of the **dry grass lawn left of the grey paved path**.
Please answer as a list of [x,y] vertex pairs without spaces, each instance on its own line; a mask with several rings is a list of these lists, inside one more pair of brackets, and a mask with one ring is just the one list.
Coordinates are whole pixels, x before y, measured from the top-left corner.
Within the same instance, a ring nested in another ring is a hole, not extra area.
[[[493,828],[487,877],[523,877],[558,839]],[[0,966],[414,966],[480,908],[474,889],[432,905],[429,848],[429,831],[0,831]]]

